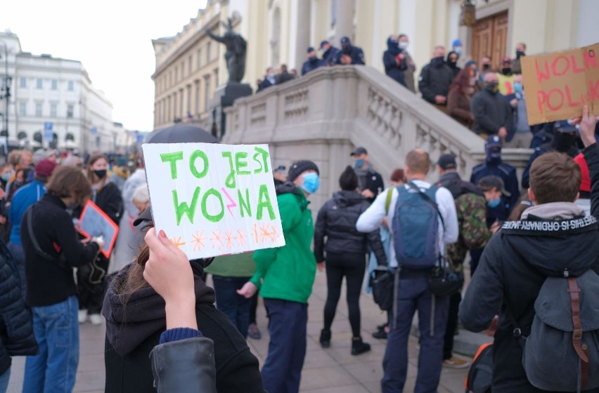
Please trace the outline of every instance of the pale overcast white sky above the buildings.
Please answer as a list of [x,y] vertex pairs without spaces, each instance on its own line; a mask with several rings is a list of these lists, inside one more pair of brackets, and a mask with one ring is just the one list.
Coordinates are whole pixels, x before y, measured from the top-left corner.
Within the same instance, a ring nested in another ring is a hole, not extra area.
[[129,130],[153,127],[152,39],[174,36],[206,0],[6,0],[0,29],[22,51],[79,60],[112,102],[112,119]]

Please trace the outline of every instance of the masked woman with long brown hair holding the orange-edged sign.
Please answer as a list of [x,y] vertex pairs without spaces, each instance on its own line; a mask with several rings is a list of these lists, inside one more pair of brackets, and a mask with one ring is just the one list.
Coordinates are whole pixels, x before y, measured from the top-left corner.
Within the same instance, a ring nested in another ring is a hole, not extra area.
[[[118,225],[123,211],[123,200],[119,188],[110,182],[107,173],[108,158],[104,154],[92,155],[87,164],[87,179],[91,184],[91,201],[98,205],[98,208],[101,208],[110,220]],[[81,213],[79,208],[75,210],[77,217]],[[105,273],[108,271],[108,262],[108,258],[100,253],[96,258],[95,265],[88,265],[84,269],[77,270],[80,324],[84,323],[88,317],[91,324],[102,324],[100,315],[103,298],[102,288]],[[94,267],[92,271],[88,268],[91,266]],[[89,277],[93,277],[93,280],[90,280]]]

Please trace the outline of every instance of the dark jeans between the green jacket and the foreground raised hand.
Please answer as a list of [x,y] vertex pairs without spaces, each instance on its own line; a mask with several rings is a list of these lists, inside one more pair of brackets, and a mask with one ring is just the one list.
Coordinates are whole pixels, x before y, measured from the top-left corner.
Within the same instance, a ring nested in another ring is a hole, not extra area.
[[250,325],[250,299],[238,295],[237,290],[250,278],[212,276],[214,293],[217,295],[217,309],[236,326],[243,338],[247,338],[247,326]]

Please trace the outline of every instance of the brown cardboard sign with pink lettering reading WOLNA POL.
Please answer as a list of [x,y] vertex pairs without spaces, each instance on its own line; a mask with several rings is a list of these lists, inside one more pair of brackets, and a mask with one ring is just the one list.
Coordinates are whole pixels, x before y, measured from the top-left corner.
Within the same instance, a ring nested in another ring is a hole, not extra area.
[[530,126],[580,117],[583,105],[599,114],[599,44],[520,62]]

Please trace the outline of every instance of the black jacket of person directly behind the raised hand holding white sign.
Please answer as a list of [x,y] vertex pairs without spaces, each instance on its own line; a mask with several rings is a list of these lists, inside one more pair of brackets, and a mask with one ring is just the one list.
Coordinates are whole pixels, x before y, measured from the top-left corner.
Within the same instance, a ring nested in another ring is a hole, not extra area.
[[[117,288],[132,266],[127,265],[116,275],[104,298],[107,393],[156,392],[149,355],[166,330],[165,302],[148,287],[136,291],[123,305]],[[258,359],[231,321],[214,308],[214,290],[200,279],[202,267],[197,262],[191,262],[191,267],[195,274],[198,329],[214,341],[218,392],[263,393]]]

